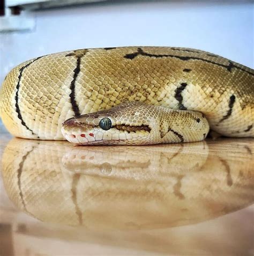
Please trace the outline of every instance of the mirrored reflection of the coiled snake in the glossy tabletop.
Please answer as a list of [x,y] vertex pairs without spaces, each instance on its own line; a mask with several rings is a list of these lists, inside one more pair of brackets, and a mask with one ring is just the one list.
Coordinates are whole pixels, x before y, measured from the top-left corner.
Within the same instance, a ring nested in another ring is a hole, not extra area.
[[253,203],[249,141],[218,151],[219,142],[83,148],[13,138],[2,175],[12,202],[43,222],[167,228]]

